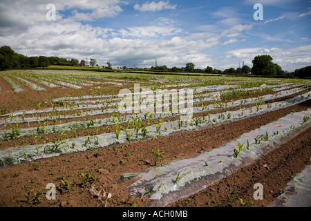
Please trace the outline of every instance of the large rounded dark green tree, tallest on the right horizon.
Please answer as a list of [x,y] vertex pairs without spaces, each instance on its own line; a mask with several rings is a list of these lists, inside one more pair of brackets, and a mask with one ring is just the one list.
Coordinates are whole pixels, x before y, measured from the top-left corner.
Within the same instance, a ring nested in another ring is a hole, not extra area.
[[254,75],[276,75],[273,58],[270,55],[258,55],[254,58],[252,74]]

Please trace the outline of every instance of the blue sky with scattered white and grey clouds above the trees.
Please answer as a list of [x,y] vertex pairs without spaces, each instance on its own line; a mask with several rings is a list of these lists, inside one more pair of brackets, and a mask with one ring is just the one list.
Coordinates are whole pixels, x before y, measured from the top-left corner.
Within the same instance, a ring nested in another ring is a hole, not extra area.
[[294,71],[311,65],[310,24],[310,0],[0,1],[0,46],[113,67],[252,68],[270,55]]

